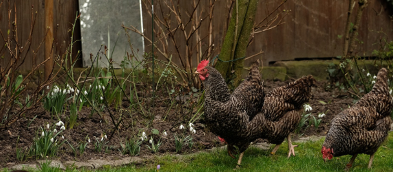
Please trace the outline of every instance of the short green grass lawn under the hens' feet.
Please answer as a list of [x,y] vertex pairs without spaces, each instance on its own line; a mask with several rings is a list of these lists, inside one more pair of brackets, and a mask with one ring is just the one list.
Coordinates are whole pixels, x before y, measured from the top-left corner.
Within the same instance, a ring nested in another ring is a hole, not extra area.
[[[334,157],[325,163],[322,159],[321,145],[323,139],[316,142],[300,143],[295,148],[296,157],[286,158],[288,146],[283,143],[276,155],[270,150],[255,147],[247,149],[242,167],[238,172],[342,172],[351,156]],[[384,146],[384,147],[383,147]],[[350,171],[356,172],[392,172],[393,171],[393,132],[388,141],[381,146],[374,158],[372,169],[367,169],[368,155],[359,155]],[[233,172],[237,159],[230,158],[226,150],[219,149],[178,158],[174,155],[156,157],[145,165],[106,168],[96,172]],[[72,171],[72,170],[67,170]],[[88,172],[87,170],[82,170]]]

